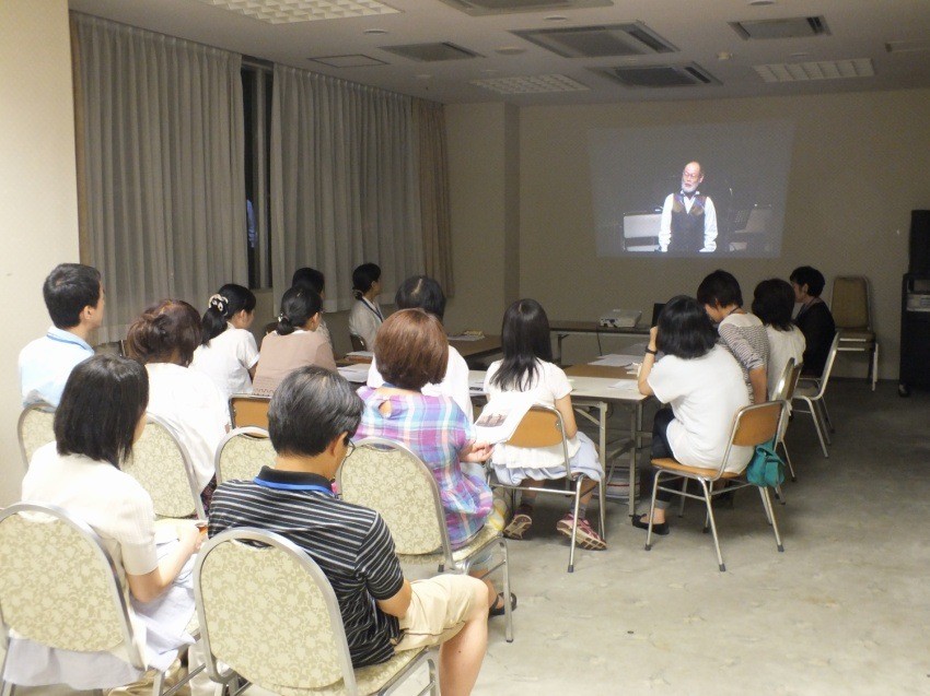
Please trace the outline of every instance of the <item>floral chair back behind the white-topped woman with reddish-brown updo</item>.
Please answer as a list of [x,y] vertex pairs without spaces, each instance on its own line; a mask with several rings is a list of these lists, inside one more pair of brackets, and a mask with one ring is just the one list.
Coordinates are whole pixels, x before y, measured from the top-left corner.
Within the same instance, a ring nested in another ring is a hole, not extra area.
[[132,446],[123,471],[152,496],[155,516],[207,519],[190,455],[174,428],[162,418],[146,415],[146,429]]

